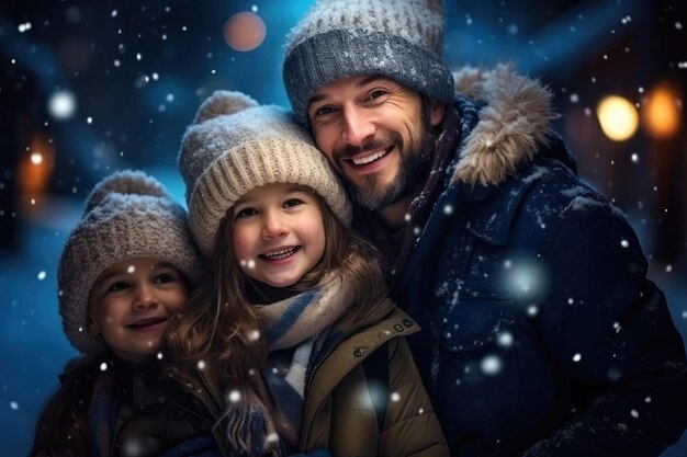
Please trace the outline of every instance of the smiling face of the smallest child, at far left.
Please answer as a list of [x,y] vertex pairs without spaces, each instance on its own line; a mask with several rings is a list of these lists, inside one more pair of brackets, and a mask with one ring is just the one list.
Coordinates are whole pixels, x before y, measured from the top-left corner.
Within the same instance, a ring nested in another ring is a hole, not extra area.
[[98,277],[89,297],[89,332],[102,334],[114,354],[145,362],[160,346],[167,320],[187,304],[185,279],[157,259],[129,259]]

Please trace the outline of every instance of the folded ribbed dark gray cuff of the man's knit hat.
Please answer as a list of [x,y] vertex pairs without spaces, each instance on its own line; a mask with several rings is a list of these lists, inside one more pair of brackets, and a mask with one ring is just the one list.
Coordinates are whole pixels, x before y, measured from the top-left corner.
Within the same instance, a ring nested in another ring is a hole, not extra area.
[[284,85],[296,119],[308,126],[315,91],[354,75],[383,75],[430,99],[455,99],[453,77],[435,53],[387,33],[335,30],[299,43],[286,56]]

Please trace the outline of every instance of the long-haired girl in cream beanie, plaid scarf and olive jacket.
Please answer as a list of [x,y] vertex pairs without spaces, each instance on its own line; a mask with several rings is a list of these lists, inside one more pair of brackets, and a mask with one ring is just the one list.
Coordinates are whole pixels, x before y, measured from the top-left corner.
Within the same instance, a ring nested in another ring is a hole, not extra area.
[[448,455],[373,248],[304,130],[216,92],[182,140],[191,230],[212,260],[167,342],[187,376],[224,380],[221,426],[243,455]]

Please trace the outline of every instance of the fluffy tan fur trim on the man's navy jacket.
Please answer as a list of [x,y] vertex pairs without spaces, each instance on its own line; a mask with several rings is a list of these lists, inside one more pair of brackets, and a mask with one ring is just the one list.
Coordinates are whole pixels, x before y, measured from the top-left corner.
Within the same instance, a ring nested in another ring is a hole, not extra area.
[[556,117],[552,94],[539,81],[517,75],[513,65],[493,70],[463,67],[453,78],[458,93],[486,106],[463,140],[451,183],[498,184],[547,144],[549,123]]

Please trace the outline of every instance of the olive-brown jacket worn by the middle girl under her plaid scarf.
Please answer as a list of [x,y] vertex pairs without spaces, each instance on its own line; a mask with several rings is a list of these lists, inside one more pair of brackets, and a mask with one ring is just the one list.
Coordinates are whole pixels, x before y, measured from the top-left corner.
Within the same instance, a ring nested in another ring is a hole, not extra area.
[[[384,300],[367,322],[346,332],[340,343],[311,370],[300,452],[326,449],[334,457],[449,455],[405,340],[417,331],[419,327],[405,312],[391,300]],[[363,361],[374,351],[384,350],[384,345],[388,359],[385,389],[388,397],[380,425],[379,405],[375,407],[379,402],[371,400],[374,389],[368,386],[369,373]],[[173,373],[173,378],[205,405],[216,423],[221,422],[224,402],[216,374],[204,369],[198,375],[193,378]],[[215,441],[228,456],[224,432],[222,423],[213,427]]]

